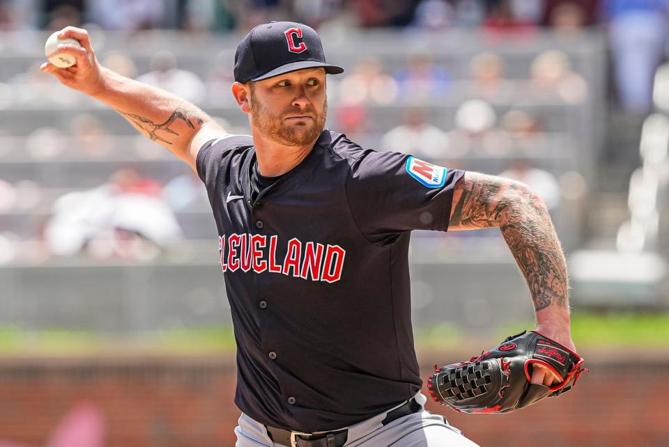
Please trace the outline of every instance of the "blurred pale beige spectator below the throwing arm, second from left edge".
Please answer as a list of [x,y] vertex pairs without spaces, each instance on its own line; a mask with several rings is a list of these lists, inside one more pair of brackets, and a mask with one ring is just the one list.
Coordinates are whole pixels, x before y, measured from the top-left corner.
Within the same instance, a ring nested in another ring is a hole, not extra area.
[[78,156],[105,157],[114,151],[114,136],[91,113],[75,115],[70,121],[70,134]]

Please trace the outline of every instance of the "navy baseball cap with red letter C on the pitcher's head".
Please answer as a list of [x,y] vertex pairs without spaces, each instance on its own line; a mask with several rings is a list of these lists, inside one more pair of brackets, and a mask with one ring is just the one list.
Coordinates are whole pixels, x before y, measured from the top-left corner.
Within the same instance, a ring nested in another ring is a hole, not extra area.
[[305,68],[325,68],[337,75],[344,68],[325,63],[318,33],[297,22],[270,22],[256,26],[235,52],[235,81],[261,81]]

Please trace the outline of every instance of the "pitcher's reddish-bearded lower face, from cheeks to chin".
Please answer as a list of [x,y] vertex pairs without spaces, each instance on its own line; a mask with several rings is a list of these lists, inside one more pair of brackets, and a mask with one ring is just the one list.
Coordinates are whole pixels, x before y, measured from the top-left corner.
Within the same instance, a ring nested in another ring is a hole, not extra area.
[[[321,107],[314,102],[296,104],[293,101],[284,107],[272,107],[273,104],[266,104],[267,98],[252,91],[251,120],[266,138],[286,146],[303,146],[318,139],[325,127],[328,98],[323,95],[321,99]],[[294,116],[305,118],[291,118]]]

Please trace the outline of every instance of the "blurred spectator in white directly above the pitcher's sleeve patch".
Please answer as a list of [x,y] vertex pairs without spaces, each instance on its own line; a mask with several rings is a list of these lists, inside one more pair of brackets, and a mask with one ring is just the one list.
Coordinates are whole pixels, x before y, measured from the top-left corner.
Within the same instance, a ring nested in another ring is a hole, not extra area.
[[408,109],[404,112],[403,124],[393,127],[381,139],[381,148],[392,152],[404,152],[431,162],[439,162],[449,156],[446,132],[426,120],[424,109]]

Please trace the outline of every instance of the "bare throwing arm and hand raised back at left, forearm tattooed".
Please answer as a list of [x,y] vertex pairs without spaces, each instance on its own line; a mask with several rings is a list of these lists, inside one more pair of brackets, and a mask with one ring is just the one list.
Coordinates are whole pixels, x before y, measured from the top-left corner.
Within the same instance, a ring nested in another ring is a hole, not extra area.
[[194,104],[100,66],[85,29],[67,26],[59,38],[68,37],[82,44],[82,47],[63,45],[61,48],[62,52],[75,56],[77,64],[57,68],[44,63],[40,69],[57,77],[62,84],[112,107],[141,134],[167,148],[193,169],[202,144],[224,135],[225,131]]

